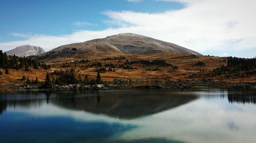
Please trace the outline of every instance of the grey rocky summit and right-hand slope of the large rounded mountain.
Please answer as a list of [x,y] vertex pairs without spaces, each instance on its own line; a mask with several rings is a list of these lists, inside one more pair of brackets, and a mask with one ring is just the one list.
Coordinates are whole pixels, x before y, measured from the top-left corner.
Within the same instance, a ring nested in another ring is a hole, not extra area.
[[98,40],[114,45],[124,53],[180,52],[201,55],[196,51],[189,50],[173,43],[168,43],[132,33],[118,34]]

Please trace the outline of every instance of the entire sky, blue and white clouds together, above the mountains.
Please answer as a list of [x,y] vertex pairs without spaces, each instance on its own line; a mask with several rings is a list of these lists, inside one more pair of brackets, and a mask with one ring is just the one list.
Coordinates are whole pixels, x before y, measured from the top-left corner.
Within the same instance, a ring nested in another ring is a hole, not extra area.
[[204,55],[256,56],[256,1],[0,0],[0,49],[46,51],[119,33],[135,33]]

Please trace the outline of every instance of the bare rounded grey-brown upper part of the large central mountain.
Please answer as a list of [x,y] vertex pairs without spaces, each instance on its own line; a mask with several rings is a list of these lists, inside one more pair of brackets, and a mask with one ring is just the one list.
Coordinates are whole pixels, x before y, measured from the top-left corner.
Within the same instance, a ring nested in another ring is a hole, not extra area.
[[201,55],[200,53],[179,45],[160,41],[150,37],[124,33],[94,39],[81,43],[62,45],[48,52],[36,56],[45,58],[101,58],[126,54],[161,54],[185,53]]

